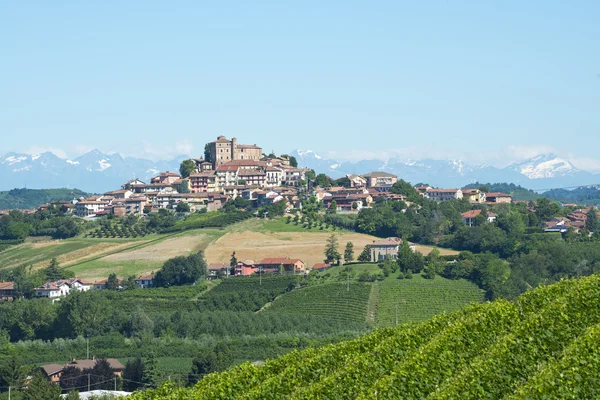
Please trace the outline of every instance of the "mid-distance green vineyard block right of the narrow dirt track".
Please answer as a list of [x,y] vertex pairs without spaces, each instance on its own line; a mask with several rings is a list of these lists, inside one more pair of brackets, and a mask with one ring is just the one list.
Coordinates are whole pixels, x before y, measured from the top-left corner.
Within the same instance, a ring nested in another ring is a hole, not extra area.
[[483,292],[466,280],[450,280],[437,276],[425,279],[386,279],[381,282],[377,325],[420,322],[442,312],[453,312],[469,303],[483,301]]

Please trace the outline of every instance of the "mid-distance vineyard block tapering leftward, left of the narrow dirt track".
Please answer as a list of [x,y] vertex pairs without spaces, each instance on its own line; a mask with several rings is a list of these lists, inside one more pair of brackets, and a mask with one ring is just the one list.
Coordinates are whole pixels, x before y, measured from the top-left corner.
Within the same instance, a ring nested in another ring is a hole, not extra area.
[[330,321],[364,324],[371,286],[330,283],[294,290],[275,300],[268,313],[313,315]]

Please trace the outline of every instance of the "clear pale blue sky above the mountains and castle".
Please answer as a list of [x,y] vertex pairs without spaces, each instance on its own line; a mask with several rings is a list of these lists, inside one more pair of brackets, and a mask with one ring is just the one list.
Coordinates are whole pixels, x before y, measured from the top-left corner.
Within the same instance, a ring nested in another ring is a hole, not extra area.
[[598,1],[0,2],[0,154],[555,152],[600,172]]

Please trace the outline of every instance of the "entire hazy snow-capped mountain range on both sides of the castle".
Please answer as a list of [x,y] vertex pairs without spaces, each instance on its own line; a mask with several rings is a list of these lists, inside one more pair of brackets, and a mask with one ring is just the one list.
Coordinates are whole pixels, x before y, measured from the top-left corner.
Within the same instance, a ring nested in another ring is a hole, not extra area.
[[[289,154],[297,158],[300,166],[333,178],[385,171],[413,184],[424,182],[440,187],[461,187],[476,181],[512,182],[534,190],[600,183],[598,174],[578,169],[555,154],[539,155],[505,168],[474,165],[462,160],[390,158],[343,162],[326,159],[311,150],[294,150]],[[100,193],[119,188],[132,178],[148,181],[159,171],[178,171],[180,162],[186,158],[189,157],[181,155],[172,160],[152,161],[123,157],[118,153],[105,154],[99,150],[72,160],[51,152],[7,153],[0,156],[0,190],[65,187]]]

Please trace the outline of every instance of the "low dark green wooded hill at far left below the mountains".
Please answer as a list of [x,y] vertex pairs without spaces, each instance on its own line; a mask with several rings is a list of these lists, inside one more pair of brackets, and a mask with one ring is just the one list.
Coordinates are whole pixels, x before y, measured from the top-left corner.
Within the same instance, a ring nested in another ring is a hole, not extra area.
[[31,209],[57,200],[73,200],[87,193],[79,189],[12,189],[0,192],[0,210]]

